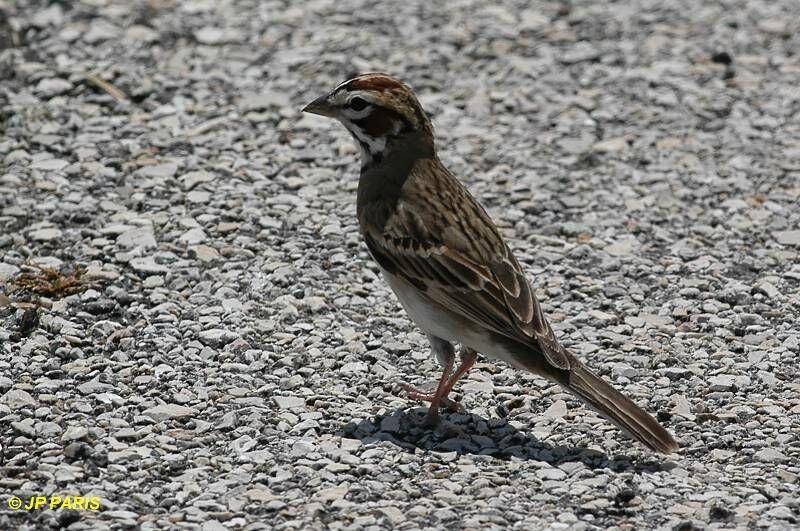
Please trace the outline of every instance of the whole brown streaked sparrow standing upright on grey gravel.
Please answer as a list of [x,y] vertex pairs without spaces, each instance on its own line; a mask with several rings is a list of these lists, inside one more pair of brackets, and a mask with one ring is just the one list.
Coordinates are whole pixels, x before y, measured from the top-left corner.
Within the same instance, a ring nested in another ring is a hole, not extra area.
[[655,452],[678,449],[655,418],[558,341],[497,226],[440,160],[408,85],[381,72],[356,75],[303,112],[338,120],[360,148],[361,235],[443,367],[435,391],[403,384],[409,398],[430,402],[426,424],[454,407],[448,395],[480,353],[559,384]]

